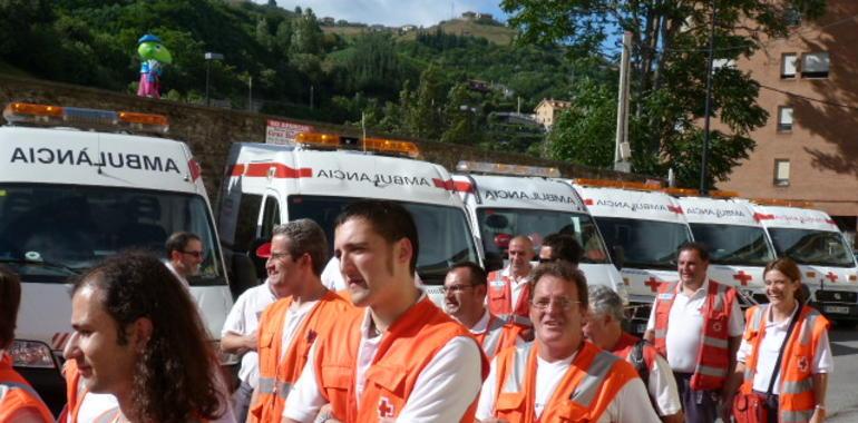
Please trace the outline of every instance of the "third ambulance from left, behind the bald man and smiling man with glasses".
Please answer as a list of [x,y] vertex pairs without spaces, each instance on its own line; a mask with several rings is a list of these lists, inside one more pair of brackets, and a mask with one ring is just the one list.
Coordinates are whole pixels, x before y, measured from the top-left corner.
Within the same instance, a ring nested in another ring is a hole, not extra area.
[[509,240],[526,235],[539,250],[542,239],[567,233],[584,248],[579,268],[591,285],[606,285],[628,303],[620,272],[602,240],[596,224],[559,170],[535,166],[460,161],[455,189],[468,209],[471,227],[490,267],[503,267]]

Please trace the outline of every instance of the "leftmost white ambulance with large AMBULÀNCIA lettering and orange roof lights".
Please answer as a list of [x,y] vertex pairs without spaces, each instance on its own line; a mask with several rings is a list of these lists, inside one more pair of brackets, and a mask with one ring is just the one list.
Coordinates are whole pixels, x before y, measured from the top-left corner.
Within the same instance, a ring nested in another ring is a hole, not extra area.
[[71,281],[124,249],[165,257],[174,232],[203,240],[201,274],[188,283],[217,336],[233,299],[199,166],[186,144],[163,138],[167,119],[23,102],[7,106],[3,118],[0,263],[22,282],[9,352],[42,397],[65,401]]

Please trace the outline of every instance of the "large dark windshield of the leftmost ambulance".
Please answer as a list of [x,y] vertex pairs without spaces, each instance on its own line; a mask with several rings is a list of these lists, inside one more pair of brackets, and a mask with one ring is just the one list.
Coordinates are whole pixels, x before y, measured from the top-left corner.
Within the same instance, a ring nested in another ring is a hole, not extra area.
[[203,197],[104,186],[0,186],[0,263],[26,282],[68,283],[124,249],[166,257],[179,230],[199,235],[205,257],[191,285],[224,285],[213,222]]

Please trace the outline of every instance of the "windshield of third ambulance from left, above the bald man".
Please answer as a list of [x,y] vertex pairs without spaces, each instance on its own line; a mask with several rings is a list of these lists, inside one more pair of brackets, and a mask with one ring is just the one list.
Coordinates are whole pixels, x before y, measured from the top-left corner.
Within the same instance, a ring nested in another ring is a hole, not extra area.
[[518,235],[530,237],[534,248],[538,252],[543,238],[562,233],[575,236],[584,248],[582,263],[610,263],[607,249],[596,225],[585,214],[525,208],[479,208],[477,219],[486,256],[506,256],[509,240]]

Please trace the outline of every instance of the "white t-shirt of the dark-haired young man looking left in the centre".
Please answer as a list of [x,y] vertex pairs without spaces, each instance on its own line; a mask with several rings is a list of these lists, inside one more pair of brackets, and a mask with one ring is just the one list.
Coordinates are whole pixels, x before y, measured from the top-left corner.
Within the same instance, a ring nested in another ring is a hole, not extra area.
[[[422,299],[422,297],[421,297]],[[367,370],[372,363],[384,334],[369,337],[370,313],[364,313],[355,370],[355,395],[363,392]],[[387,334],[387,333],[386,333]],[[283,416],[312,422],[325,404],[315,380],[315,345],[310,348],[308,365],[286,399]],[[470,337],[458,336],[441,347],[417,376],[402,411],[400,422],[457,422],[479,393],[481,383],[480,351]]]

